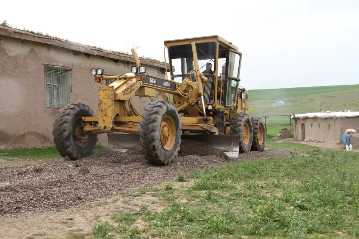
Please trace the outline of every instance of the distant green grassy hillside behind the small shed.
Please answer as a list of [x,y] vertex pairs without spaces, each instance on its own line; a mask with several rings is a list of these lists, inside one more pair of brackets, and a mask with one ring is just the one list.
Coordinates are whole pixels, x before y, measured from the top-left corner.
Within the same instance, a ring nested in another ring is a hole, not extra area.
[[[250,114],[302,114],[325,111],[344,111],[351,109],[359,111],[359,85],[320,86],[304,88],[249,90]],[[283,101],[283,106],[272,103]],[[269,117],[267,125],[289,124],[288,117]]]

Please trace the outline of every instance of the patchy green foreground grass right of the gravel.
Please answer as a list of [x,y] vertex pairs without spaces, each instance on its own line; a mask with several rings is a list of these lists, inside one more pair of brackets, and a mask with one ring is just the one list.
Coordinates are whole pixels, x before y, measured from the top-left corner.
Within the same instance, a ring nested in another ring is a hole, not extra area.
[[[359,154],[268,142],[292,157],[233,162],[143,188],[95,238],[358,238]],[[151,210],[155,205],[163,209]],[[138,226],[140,223],[141,226]]]

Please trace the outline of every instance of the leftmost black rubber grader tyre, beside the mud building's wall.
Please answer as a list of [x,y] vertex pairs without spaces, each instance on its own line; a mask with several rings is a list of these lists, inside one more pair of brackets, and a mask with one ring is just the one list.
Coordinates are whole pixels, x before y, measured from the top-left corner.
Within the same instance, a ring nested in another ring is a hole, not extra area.
[[73,134],[74,125],[82,117],[93,116],[93,111],[85,104],[71,103],[61,108],[53,123],[53,142],[56,150],[62,157],[69,157],[71,160],[85,158],[91,154],[96,146],[97,134],[86,134],[87,140],[79,146]]

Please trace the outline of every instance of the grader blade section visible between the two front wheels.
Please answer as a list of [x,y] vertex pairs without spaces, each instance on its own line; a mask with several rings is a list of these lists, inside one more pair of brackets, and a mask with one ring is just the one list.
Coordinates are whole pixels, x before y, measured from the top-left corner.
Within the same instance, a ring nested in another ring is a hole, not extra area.
[[140,144],[140,136],[132,133],[107,133],[108,149],[126,152]]

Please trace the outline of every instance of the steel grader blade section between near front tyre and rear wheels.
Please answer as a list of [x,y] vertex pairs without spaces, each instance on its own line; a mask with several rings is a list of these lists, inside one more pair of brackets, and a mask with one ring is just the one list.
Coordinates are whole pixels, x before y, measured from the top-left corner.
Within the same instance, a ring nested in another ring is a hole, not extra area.
[[[238,158],[239,156],[239,136],[238,135],[196,135],[183,134],[181,139],[197,140],[209,144],[223,153],[229,158]],[[206,150],[206,149],[203,149]]]

